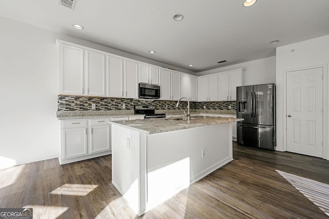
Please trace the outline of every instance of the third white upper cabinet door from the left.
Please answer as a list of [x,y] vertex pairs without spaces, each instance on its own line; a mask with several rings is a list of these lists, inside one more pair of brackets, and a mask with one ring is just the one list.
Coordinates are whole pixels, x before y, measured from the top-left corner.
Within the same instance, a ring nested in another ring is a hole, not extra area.
[[107,56],[107,95],[123,96],[123,59]]

